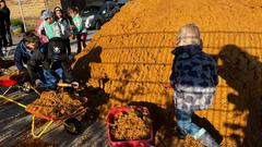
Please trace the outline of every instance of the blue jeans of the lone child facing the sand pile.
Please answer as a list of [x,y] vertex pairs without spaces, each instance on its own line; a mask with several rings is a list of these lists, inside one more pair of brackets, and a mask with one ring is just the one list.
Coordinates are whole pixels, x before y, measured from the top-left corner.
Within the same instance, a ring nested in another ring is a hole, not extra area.
[[194,136],[200,132],[200,127],[192,122],[192,111],[175,108],[178,127],[186,134]]

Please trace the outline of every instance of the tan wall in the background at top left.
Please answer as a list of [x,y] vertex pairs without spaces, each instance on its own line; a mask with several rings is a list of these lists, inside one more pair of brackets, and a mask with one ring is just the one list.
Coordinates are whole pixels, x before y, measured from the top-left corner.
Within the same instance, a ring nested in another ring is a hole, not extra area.
[[[40,16],[40,11],[45,10],[46,7],[52,10],[55,7],[60,4],[60,0],[21,0],[22,11],[25,17],[25,24],[27,29],[33,29],[36,25],[37,20]],[[21,11],[17,0],[7,0],[7,5],[11,11],[11,20],[22,20]]]

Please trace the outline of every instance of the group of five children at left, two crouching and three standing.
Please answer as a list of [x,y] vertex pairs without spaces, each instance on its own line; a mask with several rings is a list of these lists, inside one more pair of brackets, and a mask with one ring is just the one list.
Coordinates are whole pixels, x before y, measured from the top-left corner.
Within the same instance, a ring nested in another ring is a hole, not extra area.
[[87,30],[82,25],[76,8],[70,8],[69,14],[73,23],[64,17],[59,7],[53,12],[43,11],[36,33],[25,33],[16,47],[15,65],[22,74],[28,75],[28,81],[35,86],[57,89],[60,79],[79,85],[70,69],[70,37],[76,37],[79,53],[86,46]]

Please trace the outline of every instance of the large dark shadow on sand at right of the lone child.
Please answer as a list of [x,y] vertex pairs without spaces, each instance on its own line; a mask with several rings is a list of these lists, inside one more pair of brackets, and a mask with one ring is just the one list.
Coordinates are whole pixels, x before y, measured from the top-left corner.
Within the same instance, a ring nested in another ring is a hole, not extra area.
[[262,63],[236,45],[224,46],[218,58],[222,60],[219,75],[238,93],[227,96],[228,101],[235,105],[235,117],[249,111],[246,126],[230,123],[225,126],[243,132],[243,136],[230,135],[239,147],[262,146]]

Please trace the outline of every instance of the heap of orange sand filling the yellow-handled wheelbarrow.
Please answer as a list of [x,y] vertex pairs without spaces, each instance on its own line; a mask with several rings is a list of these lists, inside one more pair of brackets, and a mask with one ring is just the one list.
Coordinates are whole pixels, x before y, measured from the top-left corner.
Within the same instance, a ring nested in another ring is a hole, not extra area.
[[36,112],[52,119],[64,119],[82,112],[84,108],[78,97],[68,93],[44,91],[40,98],[26,107],[26,111]]

